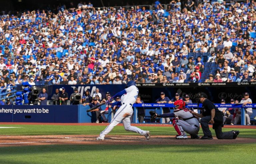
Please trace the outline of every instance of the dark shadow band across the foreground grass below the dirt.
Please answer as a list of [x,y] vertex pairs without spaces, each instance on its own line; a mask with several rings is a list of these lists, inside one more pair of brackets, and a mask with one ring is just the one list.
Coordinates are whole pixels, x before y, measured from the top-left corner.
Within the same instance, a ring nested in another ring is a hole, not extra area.
[[[228,149],[244,147],[244,146],[252,146],[256,145],[256,143],[252,144],[212,144],[209,145],[38,145],[38,146],[18,146],[18,147],[0,147],[1,155],[22,155],[22,154],[34,154],[34,153],[58,153],[58,152],[102,152],[104,150],[107,151],[145,151],[147,150],[155,150],[169,153],[184,153],[190,151],[199,152],[210,152],[216,151],[221,152],[225,147]],[[177,149],[179,147],[179,149]]]

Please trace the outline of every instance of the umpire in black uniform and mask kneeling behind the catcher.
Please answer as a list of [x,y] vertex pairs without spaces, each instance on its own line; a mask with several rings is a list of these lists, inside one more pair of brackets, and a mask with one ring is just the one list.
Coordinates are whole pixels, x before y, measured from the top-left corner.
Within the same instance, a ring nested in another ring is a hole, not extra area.
[[[205,98],[204,100],[201,98]],[[203,102],[202,102],[202,101]],[[216,137],[218,139],[236,139],[237,135],[239,134],[239,131],[229,131],[229,132],[222,132],[223,125],[223,115],[222,112],[219,111],[215,105],[207,99],[207,95],[203,92],[200,92],[197,94],[197,102],[202,102],[202,115],[196,114],[199,117],[202,117],[200,120],[200,124],[204,133],[204,136],[201,139],[213,139],[212,133],[209,129],[209,122],[211,121],[211,111],[215,110],[214,115],[214,123],[213,123],[213,129],[215,130]]]

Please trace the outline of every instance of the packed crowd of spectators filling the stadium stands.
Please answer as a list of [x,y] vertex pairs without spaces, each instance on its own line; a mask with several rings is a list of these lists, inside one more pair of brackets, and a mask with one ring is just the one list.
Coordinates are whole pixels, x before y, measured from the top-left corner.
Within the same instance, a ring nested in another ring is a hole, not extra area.
[[1,88],[256,81],[256,2],[204,2],[3,13]]

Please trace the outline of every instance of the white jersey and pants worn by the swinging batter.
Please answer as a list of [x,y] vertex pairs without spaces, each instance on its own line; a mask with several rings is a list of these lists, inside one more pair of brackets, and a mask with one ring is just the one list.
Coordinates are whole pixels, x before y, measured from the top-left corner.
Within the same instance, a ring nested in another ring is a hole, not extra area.
[[121,106],[116,111],[114,118],[110,124],[100,133],[100,137],[105,137],[111,130],[121,121],[123,121],[124,129],[145,135],[146,131],[141,130],[135,126],[131,126],[130,117],[133,113],[132,105],[135,103],[139,90],[135,85],[132,85],[125,89],[126,94],[121,96]]

